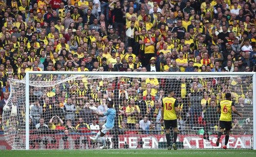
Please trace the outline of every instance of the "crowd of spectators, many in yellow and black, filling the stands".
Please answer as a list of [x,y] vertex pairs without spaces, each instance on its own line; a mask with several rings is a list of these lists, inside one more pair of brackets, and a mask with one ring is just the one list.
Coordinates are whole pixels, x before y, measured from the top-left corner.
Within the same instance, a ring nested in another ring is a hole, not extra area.
[[[0,0],[0,18],[0,114],[11,90],[8,78],[23,79],[28,70],[255,71],[252,0]],[[252,116],[251,83],[247,77],[118,77],[33,87],[31,129],[98,129],[105,119],[90,112],[105,112],[104,104],[113,99],[121,129],[162,130],[161,98],[172,86],[182,113],[180,133],[185,134],[184,123],[217,126],[214,110],[229,91],[238,110]],[[24,105],[17,105],[17,112],[6,126],[24,122]],[[246,130],[244,120],[234,125]]]

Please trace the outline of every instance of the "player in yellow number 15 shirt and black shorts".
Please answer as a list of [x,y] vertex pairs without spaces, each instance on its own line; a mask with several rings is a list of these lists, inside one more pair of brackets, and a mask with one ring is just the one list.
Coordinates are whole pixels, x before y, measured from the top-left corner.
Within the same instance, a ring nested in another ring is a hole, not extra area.
[[171,150],[172,147],[170,145],[170,128],[173,128],[174,136],[173,136],[173,148],[177,150],[176,140],[178,135],[177,130],[177,118],[179,119],[178,114],[178,105],[175,98],[173,98],[174,89],[168,89],[168,96],[162,99],[162,107],[161,107],[161,120],[162,123],[164,120],[165,125],[165,137],[167,140],[168,150]]

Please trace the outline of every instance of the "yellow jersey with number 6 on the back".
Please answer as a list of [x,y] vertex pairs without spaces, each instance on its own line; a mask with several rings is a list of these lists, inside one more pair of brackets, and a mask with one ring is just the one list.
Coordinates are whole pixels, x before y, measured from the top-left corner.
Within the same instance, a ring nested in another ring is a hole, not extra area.
[[230,100],[223,100],[219,103],[218,108],[221,111],[220,121],[232,121],[232,106],[235,106],[235,103]]

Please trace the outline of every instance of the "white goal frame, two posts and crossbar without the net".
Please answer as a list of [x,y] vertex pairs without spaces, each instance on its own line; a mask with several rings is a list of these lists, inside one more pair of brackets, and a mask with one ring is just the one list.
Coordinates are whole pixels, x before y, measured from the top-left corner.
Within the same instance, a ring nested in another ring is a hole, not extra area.
[[[25,76],[25,95],[26,95],[26,113],[29,113],[29,76],[30,74],[72,74],[72,75],[173,75],[173,76],[188,76],[188,75],[251,75],[253,81],[253,97],[256,98],[256,72],[106,72],[106,71],[26,71]],[[256,150],[256,101],[253,101],[253,150]],[[26,114],[25,128],[25,150],[29,150],[29,114]]]

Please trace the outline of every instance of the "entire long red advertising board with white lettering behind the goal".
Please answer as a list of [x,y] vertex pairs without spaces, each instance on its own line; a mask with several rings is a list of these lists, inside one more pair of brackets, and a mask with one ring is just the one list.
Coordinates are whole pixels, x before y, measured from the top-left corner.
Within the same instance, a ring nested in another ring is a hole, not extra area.
[[[90,135],[86,134],[71,134],[65,135],[30,135],[30,149],[92,149],[100,146],[100,140],[98,144],[94,144],[89,139]],[[18,136],[16,136],[16,139]],[[24,136],[20,139],[14,140],[17,143],[13,144],[13,149],[17,144],[25,147]],[[112,135],[106,136],[106,142],[110,148],[113,146],[116,148],[159,148],[158,144],[166,142],[165,135],[118,135],[118,138],[114,138]],[[185,149],[215,149],[221,148],[225,142],[225,136],[221,136],[220,144],[217,147],[217,135],[210,136],[210,141],[203,140],[202,135],[178,135],[177,141],[183,142],[183,148]],[[229,142],[227,144],[229,149],[231,148],[253,148],[253,137],[250,135],[230,135]],[[12,149],[4,140],[3,135],[0,135],[0,148]]]

